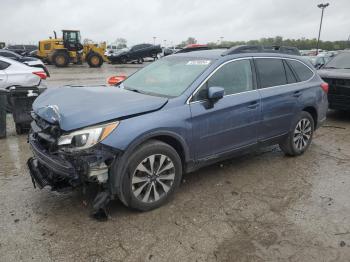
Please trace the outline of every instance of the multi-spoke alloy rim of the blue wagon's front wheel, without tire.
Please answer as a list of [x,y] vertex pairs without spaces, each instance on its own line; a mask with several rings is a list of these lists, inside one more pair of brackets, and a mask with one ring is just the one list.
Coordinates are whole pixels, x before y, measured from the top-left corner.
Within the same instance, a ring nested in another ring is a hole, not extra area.
[[131,183],[134,196],[144,203],[162,199],[172,188],[175,180],[175,166],[166,155],[153,154],[136,167]]

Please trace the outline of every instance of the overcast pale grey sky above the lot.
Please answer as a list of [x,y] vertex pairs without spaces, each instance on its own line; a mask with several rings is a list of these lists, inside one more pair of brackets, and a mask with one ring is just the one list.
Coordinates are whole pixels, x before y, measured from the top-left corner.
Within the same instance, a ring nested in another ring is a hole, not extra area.
[[[0,42],[37,43],[56,30],[80,29],[82,38],[128,44],[250,40],[276,35],[317,37],[315,0],[1,0]],[[350,35],[350,0],[330,0],[322,40]]]

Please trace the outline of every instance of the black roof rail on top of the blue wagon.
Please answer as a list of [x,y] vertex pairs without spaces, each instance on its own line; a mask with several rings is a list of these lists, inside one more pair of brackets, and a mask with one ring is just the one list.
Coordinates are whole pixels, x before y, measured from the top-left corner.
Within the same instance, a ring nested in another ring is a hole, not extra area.
[[222,56],[242,53],[280,53],[289,55],[301,55],[298,48],[291,46],[238,45],[231,47],[222,53]]

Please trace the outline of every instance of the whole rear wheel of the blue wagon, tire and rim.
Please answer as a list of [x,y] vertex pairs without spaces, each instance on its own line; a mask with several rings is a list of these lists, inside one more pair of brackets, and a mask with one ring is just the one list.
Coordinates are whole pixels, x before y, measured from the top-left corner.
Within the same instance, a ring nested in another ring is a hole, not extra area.
[[314,119],[308,112],[302,111],[294,121],[292,131],[279,146],[287,156],[302,155],[312,142],[314,130]]

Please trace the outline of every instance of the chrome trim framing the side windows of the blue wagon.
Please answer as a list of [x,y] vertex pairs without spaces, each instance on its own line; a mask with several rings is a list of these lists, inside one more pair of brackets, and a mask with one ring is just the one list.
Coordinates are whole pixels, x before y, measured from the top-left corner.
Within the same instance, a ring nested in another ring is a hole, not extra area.
[[253,89],[253,90],[249,90],[249,91],[244,91],[244,92],[240,92],[240,93],[235,93],[235,94],[229,94],[229,95],[225,95],[226,96],[232,96],[232,95],[239,95],[239,94],[244,94],[244,93],[248,93],[248,92],[253,92],[253,91],[257,91],[259,89],[271,89],[271,88],[276,88],[276,87],[283,87],[283,86],[289,86],[289,85],[295,85],[295,84],[299,84],[299,83],[306,83],[309,82],[311,79],[313,79],[316,75],[315,70],[311,69],[307,64],[305,64],[303,61],[300,61],[298,59],[295,58],[289,58],[289,57],[276,57],[276,56],[249,56],[249,57],[241,57],[241,58],[236,58],[236,59],[232,59],[229,61],[226,61],[225,63],[222,63],[220,66],[218,66],[213,72],[210,73],[209,76],[207,76],[202,83],[200,83],[200,85],[193,91],[193,93],[189,96],[189,98],[187,98],[186,100],[186,104],[192,104],[192,103],[198,103],[198,102],[205,102],[207,100],[199,100],[199,101],[191,101],[191,99],[193,98],[194,95],[196,95],[196,93],[198,92],[198,90],[205,84],[205,82],[213,75],[216,73],[216,71],[218,71],[221,67],[223,67],[224,65],[234,62],[234,61],[239,61],[239,60],[247,60],[247,59],[259,59],[259,58],[272,58],[272,59],[285,59],[285,60],[293,60],[293,61],[297,61],[301,64],[303,64],[304,66],[306,66],[311,72],[312,72],[312,76],[304,81],[300,81],[300,82],[295,82],[295,83],[288,83],[285,85],[278,85],[278,86],[269,86],[269,87],[264,87],[264,88],[257,88],[257,89]]

